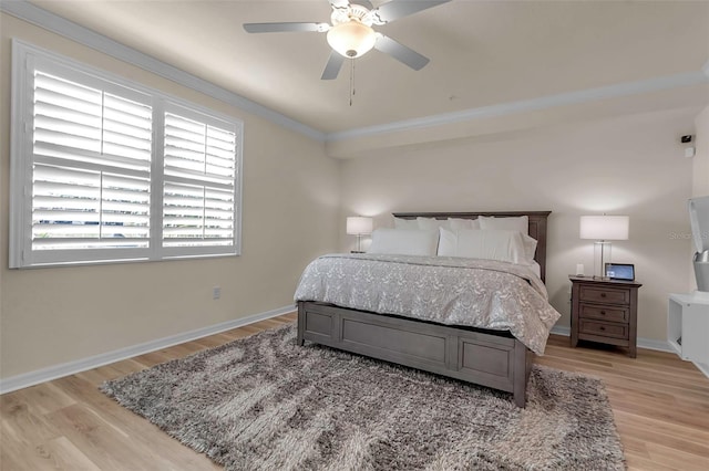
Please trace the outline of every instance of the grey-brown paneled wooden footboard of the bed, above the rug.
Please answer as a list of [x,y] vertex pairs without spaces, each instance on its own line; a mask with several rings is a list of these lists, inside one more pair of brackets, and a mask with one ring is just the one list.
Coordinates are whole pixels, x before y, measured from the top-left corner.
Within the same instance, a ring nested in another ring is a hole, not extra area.
[[520,407],[534,355],[505,334],[300,301],[305,341],[512,393]]

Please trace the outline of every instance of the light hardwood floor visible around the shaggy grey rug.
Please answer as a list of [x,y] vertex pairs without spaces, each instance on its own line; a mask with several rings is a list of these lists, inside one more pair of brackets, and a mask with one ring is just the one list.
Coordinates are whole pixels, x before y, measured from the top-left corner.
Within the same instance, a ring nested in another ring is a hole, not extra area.
[[[294,322],[295,313],[0,397],[0,469],[217,470],[99,391],[106,380]],[[676,355],[636,359],[552,336],[542,365],[603,378],[631,470],[709,470],[709,379]],[[596,471],[596,470],[594,470]]]

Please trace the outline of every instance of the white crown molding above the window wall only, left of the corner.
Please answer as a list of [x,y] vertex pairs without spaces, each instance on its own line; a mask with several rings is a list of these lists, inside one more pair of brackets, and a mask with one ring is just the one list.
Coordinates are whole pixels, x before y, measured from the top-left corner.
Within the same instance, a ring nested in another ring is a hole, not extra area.
[[204,93],[205,95],[212,96],[213,98],[233,105],[239,109],[253,113],[256,116],[268,119],[285,128],[304,134],[312,139],[325,142],[326,134],[320,130],[306,126],[305,124],[281,115],[266,106],[251,102],[242,95],[237,95],[236,93],[222,88],[218,85],[144,54],[133,48],[121,44],[120,42],[106,38],[103,34],[99,34],[95,31],[43,10],[27,0],[0,1],[0,11],[60,34],[120,61],[133,64],[147,72],[154,73],[155,75],[171,80],[179,85]]

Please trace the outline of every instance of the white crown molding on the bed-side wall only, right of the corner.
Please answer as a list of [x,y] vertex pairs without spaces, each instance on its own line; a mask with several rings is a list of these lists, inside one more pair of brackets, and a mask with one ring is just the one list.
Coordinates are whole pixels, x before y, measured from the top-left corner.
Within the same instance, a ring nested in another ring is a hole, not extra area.
[[518,102],[503,103],[499,105],[482,106],[480,108],[470,108],[461,112],[404,119],[400,122],[388,123],[378,126],[360,127],[357,129],[349,129],[339,133],[329,133],[326,135],[326,140],[329,143],[333,143],[339,140],[397,133],[401,130],[420,129],[424,127],[441,126],[473,119],[483,119],[503,115],[540,111],[557,106],[569,106],[608,98],[618,98],[621,96],[660,92],[664,90],[686,87],[698,85],[701,83],[709,83],[709,64],[705,65],[703,71],[699,72],[688,72],[665,77],[656,77],[638,82],[603,86],[598,88],[588,88],[578,92],[562,93],[557,95],[541,96],[538,98],[522,100]]

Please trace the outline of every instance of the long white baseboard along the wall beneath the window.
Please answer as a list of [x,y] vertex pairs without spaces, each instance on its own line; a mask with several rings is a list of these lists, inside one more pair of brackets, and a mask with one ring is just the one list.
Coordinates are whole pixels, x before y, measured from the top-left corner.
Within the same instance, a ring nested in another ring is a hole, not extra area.
[[284,306],[260,314],[235,318],[233,321],[197,328],[195,331],[171,335],[169,337],[158,338],[143,344],[120,348],[117,350],[94,355],[88,358],[78,359],[75,362],[62,363],[60,365],[24,373],[22,375],[11,376],[6,379],[0,379],[0,394],[11,393],[18,389],[27,388],[29,386],[38,385],[40,383],[51,381],[52,379],[74,375],[88,369],[97,368],[100,366],[109,365],[111,363],[120,362],[122,359],[131,358],[137,355],[167,348],[173,345],[183,344],[185,342],[218,334],[220,332],[230,331],[232,328],[243,327],[255,322],[288,314],[290,312],[294,312],[295,310],[296,307],[294,305]]

